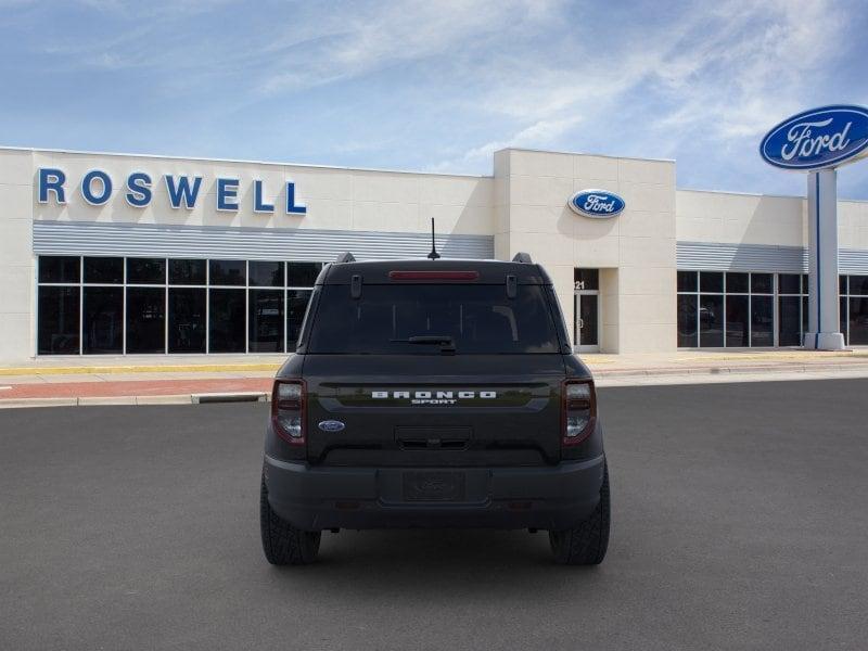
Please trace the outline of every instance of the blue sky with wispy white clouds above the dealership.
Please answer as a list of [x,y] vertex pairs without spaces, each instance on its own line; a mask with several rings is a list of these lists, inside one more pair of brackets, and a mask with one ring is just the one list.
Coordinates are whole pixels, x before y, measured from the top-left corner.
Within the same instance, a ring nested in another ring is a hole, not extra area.
[[473,175],[518,146],[803,195],[760,140],[868,105],[866,33],[866,0],[0,0],[0,145]]

